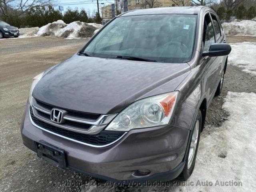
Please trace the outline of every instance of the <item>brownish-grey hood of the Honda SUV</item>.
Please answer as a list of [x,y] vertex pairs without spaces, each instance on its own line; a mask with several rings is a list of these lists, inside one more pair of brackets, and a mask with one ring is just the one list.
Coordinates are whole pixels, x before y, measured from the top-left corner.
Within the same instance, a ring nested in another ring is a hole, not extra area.
[[113,114],[138,99],[174,91],[189,72],[187,63],[74,55],[46,71],[33,96],[59,108]]

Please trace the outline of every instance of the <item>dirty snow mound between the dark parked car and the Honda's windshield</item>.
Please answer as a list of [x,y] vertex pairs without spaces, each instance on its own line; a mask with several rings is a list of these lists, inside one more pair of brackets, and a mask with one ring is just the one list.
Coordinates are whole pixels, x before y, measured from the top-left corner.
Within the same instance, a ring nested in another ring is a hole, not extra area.
[[93,36],[94,32],[100,28],[102,28],[102,25],[96,23],[87,24],[80,21],[74,21],[70,24],[66,24],[64,21],[58,20],[42,26],[37,35],[64,38],[85,38]]

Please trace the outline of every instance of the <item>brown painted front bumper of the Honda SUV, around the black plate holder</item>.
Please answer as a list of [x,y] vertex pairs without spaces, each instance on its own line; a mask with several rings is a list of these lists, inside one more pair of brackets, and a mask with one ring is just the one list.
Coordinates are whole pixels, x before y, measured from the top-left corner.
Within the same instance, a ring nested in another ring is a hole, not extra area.
[[[27,104],[21,134],[24,145],[33,151],[34,141],[40,140],[65,150],[67,166],[85,174],[115,182],[164,182],[176,178],[184,167],[189,130],[170,125],[136,129],[111,146],[94,148],[36,128],[30,121]],[[136,170],[150,173],[138,176]]]

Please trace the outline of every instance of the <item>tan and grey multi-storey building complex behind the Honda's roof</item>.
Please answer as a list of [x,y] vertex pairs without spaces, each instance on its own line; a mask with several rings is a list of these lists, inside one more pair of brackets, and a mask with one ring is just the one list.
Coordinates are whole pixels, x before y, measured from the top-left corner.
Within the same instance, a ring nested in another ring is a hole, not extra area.
[[[102,19],[111,19],[126,11],[152,7],[190,6],[191,0],[115,0],[115,4],[102,7]],[[116,11],[117,8],[117,11]]]

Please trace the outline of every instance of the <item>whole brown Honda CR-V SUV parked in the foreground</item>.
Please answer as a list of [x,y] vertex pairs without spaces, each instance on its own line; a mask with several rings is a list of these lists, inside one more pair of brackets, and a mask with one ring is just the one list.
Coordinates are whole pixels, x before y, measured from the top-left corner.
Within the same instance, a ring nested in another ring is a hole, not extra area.
[[24,145],[60,168],[112,181],[186,180],[230,45],[208,7],[112,19],[33,79]]

